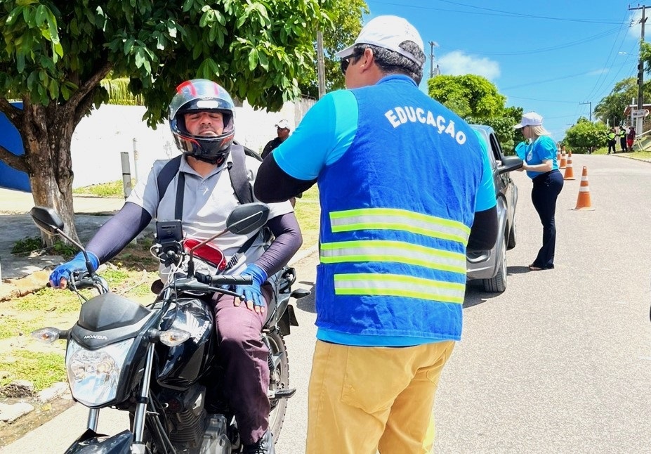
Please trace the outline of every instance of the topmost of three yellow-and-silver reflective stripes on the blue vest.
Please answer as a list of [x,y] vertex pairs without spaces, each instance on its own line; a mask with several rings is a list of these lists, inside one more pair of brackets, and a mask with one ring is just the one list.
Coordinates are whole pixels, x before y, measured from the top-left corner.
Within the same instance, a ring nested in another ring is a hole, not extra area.
[[470,228],[458,221],[410,212],[406,209],[362,208],[330,213],[332,232],[396,230],[442,240],[468,243]]

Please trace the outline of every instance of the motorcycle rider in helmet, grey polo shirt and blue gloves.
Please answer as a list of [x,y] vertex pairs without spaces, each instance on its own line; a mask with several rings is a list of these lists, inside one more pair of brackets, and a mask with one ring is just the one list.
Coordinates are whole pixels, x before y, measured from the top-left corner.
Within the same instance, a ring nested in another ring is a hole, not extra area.
[[[176,146],[183,153],[178,172],[164,194],[159,195],[157,177],[169,160],[154,162],[147,179],[138,182],[124,206],[88,242],[87,253],[93,269],[112,259],[152,219],[175,218],[177,183],[183,186],[182,221],[186,238],[205,240],[225,228],[228,214],[239,205],[229,172],[230,148],[235,137],[235,105],[229,94],[215,82],[193,79],[176,88],[169,105],[169,125]],[[246,157],[246,174],[252,185],[260,162]],[[274,453],[268,429],[270,403],[268,349],[261,340],[265,306],[272,290],[267,277],[280,271],[303,242],[298,221],[289,202],[270,204],[268,228],[275,238],[268,245],[263,235],[249,242],[247,236],[225,233],[212,245],[226,259],[239,256],[227,273],[251,275],[251,285],[236,287],[246,304],[230,295],[214,294],[213,307],[218,327],[218,361],[225,370],[224,387],[235,412],[244,453]],[[50,275],[53,287],[65,288],[70,273],[85,271],[86,261],[77,254]],[[162,276],[164,278],[164,276]]]

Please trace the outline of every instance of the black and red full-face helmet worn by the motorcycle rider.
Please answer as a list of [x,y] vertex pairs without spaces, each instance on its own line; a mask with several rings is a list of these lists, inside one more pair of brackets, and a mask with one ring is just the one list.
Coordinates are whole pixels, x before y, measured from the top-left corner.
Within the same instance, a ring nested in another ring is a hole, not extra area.
[[[221,112],[222,134],[209,137],[190,134],[183,115],[197,110]],[[176,87],[176,94],[169,103],[169,129],[181,152],[214,164],[228,155],[235,138],[235,104],[219,84],[207,79],[188,80]]]

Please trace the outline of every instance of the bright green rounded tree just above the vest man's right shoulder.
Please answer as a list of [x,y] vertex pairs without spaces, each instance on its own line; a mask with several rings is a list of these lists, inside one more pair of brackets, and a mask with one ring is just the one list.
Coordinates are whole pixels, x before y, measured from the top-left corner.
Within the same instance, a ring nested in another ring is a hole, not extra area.
[[520,122],[522,108],[505,108],[501,95],[488,79],[475,74],[442,75],[428,80],[429,95],[472,124],[492,127],[506,153],[513,153],[513,125]]

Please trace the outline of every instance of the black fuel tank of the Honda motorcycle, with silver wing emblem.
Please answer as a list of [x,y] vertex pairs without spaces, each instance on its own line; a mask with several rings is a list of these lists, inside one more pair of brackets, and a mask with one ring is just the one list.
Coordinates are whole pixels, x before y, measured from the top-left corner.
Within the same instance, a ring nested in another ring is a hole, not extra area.
[[187,389],[204,375],[212,360],[213,313],[201,299],[179,299],[171,311],[171,326],[189,332],[190,339],[173,347],[157,344],[157,381],[162,387]]

